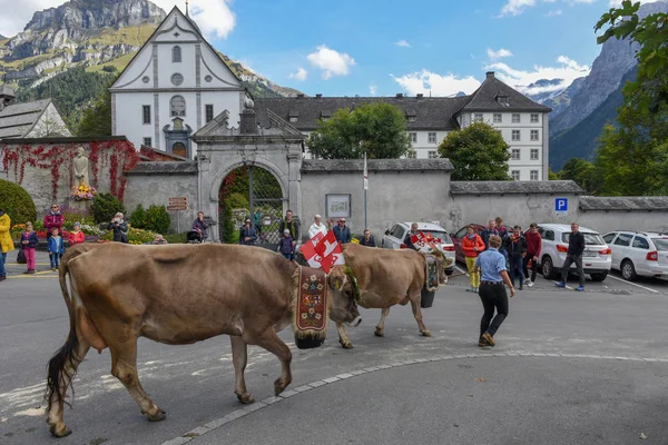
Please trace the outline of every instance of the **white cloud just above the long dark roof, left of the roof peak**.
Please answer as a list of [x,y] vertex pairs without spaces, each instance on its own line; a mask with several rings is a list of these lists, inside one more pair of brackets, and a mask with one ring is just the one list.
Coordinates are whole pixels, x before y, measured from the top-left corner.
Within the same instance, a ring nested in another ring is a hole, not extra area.
[[460,91],[473,92],[480,81],[472,76],[459,78],[452,73],[439,75],[426,69],[395,77],[390,75],[410,95],[431,93],[432,96],[453,96]]

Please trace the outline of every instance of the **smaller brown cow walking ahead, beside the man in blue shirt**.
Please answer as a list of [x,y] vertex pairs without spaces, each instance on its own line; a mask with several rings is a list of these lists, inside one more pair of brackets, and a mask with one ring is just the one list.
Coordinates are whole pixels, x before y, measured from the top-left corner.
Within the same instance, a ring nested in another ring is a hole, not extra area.
[[[444,269],[445,256],[438,250],[433,255],[436,257],[439,281],[444,284],[448,281]],[[375,328],[376,336],[383,336],[385,317],[390,314],[390,307],[396,304],[404,306],[409,301],[411,301],[420,333],[425,337],[431,336],[422,322],[422,312],[420,310],[421,291],[426,283],[424,255],[412,249],[377,249],[347,244],[343,247],[343,256],[346,266],[334,267],[330,273],[330,283],[336,289],[335,293],[353,296],[353,286],[345,269],[350,267],[360,289],[360,306],[366,309],[383,309],[381,320]],[[341,346],[353,347],[345,326],[336,323],[336,328]]]

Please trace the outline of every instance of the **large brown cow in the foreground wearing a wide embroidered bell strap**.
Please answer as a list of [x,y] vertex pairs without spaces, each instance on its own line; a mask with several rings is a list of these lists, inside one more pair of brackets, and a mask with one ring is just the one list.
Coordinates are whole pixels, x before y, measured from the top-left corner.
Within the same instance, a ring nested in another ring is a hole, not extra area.
[[[246,345],[262,346],[281,360],[282,374],[274,385],[279,394],[292,380],[292,354],[276,333],[292,323],[298,270],[295,263],[259,247],[116,243],[73,246],[60,266],[70,332],[48,366],[47,423],[51,434],[70,434],[62,422],[62,404],[90,347],[98,352],[109,348],[111,374],[149,421],[165,418],[165,412],[139,383],[136,366],[140,336],[185,345],[229,335],[235,393],[242,403],[253,402],[244,380]],[[338,293],[330,295],[333,320],[358,319],[351,298]]]

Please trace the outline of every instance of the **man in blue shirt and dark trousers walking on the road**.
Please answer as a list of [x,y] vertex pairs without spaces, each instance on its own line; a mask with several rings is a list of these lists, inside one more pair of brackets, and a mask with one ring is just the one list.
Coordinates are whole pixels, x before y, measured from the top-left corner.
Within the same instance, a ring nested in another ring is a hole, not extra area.
[[[475,260],[475,271],[481,271],[480,290],[478,295],[482,301],[484,314],[480,320],[480,338],[478,346],[494,346],[494,334],[508,317],[508,294],[503,284],[510,289],[510,297],[515,294],[515,289],[510,281],[505,270],[505,258],[499,253],[501,238],[497,235],[490,236],[490,247],[481,253]],[[494,309],[497,316],[494,317]],[[492,319],[492,317],[494,319]]]

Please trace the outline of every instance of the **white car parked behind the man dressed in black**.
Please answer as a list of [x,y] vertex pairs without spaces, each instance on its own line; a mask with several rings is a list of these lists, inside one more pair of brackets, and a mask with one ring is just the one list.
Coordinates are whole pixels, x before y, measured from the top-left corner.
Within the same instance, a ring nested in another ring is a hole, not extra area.
[[[568,253],[568,239],[571,234],[570,225],[540,224],[538,231],[542,237],[539,265],[543,277],[547,279],[561,279],[561,267]],[[601,236],[591,229],[580,227],[584,235],[584,253],[582,254],[582,268],[595,281],[602,281],[608,276],[612,266],[612,250]],[[571,271],[576,265],[571,265]]]

